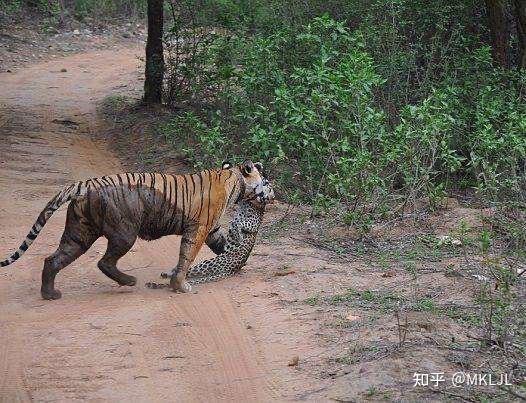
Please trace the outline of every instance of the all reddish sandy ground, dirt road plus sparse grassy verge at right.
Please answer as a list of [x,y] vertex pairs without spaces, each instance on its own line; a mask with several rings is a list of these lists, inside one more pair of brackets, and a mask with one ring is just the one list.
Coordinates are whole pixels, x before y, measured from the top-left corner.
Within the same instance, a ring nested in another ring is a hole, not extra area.
[[[140,95],[142,52],[139,43],[0,73],[2,254],[62,185],[129,169],[110,151],[116,141],[99,135],[107,127],[95,109],[110,94]],[[128,154],[155,144],[129,138]],[[58,275],[62,299],[43,301],[40,271],[62,208],[0,271],[0,401],[510,401],[502,390],[413,380],[460,370],[508,371],[516,386],[524,378],[522,354],[477,339],[486,213],[451,200],[361,242],[278,203],[241,275],[197,294],[144,286],[176,264],[178,237],[137,242],[119,264],[138,278],[131,288],[96,268],[100,239]],[[440,245],[443,236],[474,246]],[[210,256],[205,247],[198,259]]]

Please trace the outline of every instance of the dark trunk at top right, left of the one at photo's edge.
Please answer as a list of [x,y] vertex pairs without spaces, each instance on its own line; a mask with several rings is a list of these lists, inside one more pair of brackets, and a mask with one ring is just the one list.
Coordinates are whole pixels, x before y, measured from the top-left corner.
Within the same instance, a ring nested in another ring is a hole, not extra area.
[[510,29],[506,18],[506,2],[504,0],[486,0],[486,9],[488,12],[493,60],[500,66],[507,68]]

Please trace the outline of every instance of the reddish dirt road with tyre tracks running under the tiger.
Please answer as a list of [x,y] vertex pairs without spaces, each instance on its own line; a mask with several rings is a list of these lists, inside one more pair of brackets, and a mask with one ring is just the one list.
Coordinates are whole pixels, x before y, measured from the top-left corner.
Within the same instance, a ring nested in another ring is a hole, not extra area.
[[[86,53],[0,74],[1,258],[63,184],[123,171],[90,133],[95,101],[138,79],[141,51]],[[43,261],[64,219],[62,208],[0,273],[1,401],[280,400],[220,284],[190,295],[144,287],[176,263],[175,237],[139,241],[122,259],[123,271],[138,277],[133,288],[96,268],[100,239],[58,275],[62,299],[43,301]]]

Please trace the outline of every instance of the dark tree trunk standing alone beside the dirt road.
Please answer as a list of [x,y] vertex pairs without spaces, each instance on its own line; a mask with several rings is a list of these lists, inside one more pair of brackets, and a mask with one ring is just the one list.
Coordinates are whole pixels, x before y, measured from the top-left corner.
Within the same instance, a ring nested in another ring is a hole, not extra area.
[[163,92],[163,0],[148,0],[144,102],[160,104]]

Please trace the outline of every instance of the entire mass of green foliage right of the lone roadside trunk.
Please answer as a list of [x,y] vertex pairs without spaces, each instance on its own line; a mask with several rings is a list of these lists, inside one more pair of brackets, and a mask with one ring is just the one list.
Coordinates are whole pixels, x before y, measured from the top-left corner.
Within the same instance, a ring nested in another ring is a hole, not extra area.
[[526,78],[493,67],[478,2],[198,4],[173,12],[167,99],[283,196],[362,233],[459,187],[526,202]]

